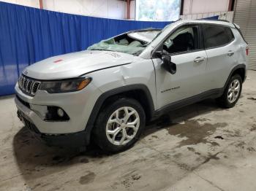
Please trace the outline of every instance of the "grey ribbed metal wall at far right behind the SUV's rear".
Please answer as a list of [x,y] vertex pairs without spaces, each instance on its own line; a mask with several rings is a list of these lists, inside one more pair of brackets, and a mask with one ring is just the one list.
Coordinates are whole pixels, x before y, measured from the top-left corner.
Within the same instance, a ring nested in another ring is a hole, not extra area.
[[234,23],[241,27],[241,32],[249,43],[249,69],[256,70],[256,1],[237,0]]

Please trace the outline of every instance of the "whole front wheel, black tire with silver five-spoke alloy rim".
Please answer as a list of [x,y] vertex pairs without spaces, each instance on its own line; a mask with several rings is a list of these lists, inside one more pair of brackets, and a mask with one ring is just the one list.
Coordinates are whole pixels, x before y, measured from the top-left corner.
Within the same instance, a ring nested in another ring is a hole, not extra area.
[[118,98],[99,113],[94,141],[106,152],[121,152],[132,147],[145,126],[145,112],[138,101]]

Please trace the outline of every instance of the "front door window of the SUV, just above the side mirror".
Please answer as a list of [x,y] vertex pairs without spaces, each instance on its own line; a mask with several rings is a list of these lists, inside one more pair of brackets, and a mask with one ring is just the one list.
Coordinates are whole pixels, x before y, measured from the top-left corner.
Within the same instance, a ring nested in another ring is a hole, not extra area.
[[163,52],[173,54],[198,49],[197,26],[181,26],[163,44]]

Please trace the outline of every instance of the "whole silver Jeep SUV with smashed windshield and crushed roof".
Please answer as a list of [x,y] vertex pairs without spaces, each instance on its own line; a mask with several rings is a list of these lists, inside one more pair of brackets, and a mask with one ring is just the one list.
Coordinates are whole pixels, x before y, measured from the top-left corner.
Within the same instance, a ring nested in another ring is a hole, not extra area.
[[93,140],[120,152],[135,144],[146,121],[170,110],[206,98],[233,107],[248,55],[238,28],[178,20],[34,63],[15,86],[18,117],[48,144]]

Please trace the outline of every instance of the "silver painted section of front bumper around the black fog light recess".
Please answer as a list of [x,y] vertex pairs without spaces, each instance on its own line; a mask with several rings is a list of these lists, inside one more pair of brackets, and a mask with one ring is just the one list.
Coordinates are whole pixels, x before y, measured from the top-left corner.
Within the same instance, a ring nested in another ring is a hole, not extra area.
[[[64,134],[77,133],[85,130],[91,110],[99,95],[99,90],[94,85],[88,85],[83,90],[72,93],[47,93],[38,90],[34,97],[24,94],[18,85],[15,86],[18,98],[15,104],[23,112],[40,133]],[[44,114],[47,106],[57,106],[69,116],[66,121],[48,121]]]

